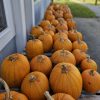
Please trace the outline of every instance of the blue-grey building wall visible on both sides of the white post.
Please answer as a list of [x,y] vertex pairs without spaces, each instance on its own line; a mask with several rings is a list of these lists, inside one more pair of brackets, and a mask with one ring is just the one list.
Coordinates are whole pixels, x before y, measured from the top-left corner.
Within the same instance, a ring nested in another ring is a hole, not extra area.
[[[47,8],[47,6],[49,5],[51,0],[38,0],[38,2],[34,3],[34,7],[35,7],[35,25],[38,25],[39,22],[43,19],[44,16],[44,12]],[[15,38],[13,38],[6,46],[5,48],[0,51],[0,63],[2,62],[2,60],[12,54],[16,52],[16,41]]]

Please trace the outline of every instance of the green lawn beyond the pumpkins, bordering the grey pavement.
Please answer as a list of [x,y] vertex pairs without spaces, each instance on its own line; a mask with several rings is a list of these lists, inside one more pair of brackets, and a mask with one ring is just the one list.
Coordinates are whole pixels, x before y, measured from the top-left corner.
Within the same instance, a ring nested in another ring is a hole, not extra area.
[[94,18],[96,17],[95,13],[89,8],[84,7],[81,4],[70,2],[70,0],[54,0],[54,2],[66,3],[70,7],[74,17],[81,18]]

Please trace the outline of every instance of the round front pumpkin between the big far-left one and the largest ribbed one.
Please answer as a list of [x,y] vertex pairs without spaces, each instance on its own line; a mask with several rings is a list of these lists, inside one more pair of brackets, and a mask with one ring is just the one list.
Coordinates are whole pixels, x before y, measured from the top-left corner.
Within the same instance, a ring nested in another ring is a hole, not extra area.
[[21,85],[21,91],[29,100],[45,100],[44,92],[48,91],[49,82],[47,77],[41,72],[28,74]]

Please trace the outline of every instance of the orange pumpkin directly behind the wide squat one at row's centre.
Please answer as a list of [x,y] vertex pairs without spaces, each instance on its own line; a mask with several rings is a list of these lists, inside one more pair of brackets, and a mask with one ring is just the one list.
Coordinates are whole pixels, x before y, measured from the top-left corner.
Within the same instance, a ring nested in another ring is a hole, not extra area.
[[59,39],[57,39],[54,42],[53,47],[54,47],[54,50],[65,49],[65,50],[71,51],[72,50],[72,42],[69,39],[60,37]]

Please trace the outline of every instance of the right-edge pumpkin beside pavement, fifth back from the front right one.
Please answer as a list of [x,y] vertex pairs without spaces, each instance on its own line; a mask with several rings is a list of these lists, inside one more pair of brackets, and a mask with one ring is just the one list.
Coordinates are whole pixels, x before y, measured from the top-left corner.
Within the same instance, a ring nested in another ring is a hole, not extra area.
[[80,40],[82,40],[82,34],[81,34],[80,32],[78,32],[78,31],[70,30],[70,31],[68,32],[68,38],[69,38],[72,42],[77,41],[78,38],[79,38]]

